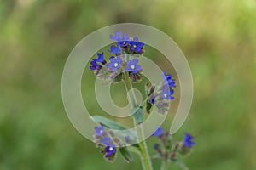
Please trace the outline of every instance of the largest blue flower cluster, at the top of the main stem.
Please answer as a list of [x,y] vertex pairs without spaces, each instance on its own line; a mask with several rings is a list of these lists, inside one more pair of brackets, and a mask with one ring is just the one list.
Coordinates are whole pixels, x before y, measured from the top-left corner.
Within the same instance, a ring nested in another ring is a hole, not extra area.
[[137,57],[143,54],[144,43],[139,42],[137,37],[131,38],[127,34],[122,36],[120,32],[116,32],[110,38],[116,42],[108,52],[115,56],[111,56],[107,61],[103,53],[98,53],[98,59],[90,61],[90,70],[95,71],[97,77],[113,82],[120,82],[124,78],[124,72],[127,71],[131,82],[140,82],[142,80],[140,72],[143,68],[138,64]]

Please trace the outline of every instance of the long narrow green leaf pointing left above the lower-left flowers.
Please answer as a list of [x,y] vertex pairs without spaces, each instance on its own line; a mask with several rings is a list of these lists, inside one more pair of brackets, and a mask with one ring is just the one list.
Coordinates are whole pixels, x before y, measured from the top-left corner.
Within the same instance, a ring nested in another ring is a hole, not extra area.
[[119,124],[118,122],[114,122],[114,121],[112,121],[106,117],[103,117],[103,116],[91,116],[91,118],[98,123],[102,123],[103,126],[114,129],[114,130],[129,129],[128,127],[125,127],[125,126]]

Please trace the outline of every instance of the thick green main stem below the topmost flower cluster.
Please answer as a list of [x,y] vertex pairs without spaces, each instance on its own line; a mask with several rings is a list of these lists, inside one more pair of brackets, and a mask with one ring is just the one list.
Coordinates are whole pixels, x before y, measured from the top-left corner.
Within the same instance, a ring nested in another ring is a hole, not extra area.
[[[124,82],[125,82],[126,91],[128,93],[132,89],[131,80],[130,80],[128,72],[125,72]],[[131,93],[131,95],[129,95],[128,97],[129,97],[131,109],[137,108],[137,106],[138,106],[137,99],[136,99],[135,95],[133,94],[133,92],[129,92],[129,94],[130,93]],[[134,125],[137,126],[136,120],[134,120]],[[141,128],[141,127],[137,128],[137,137],[138,137],[139,141],[142,141],[142,142],[138,143],[138,145],[139,145],[139,148],[141,151],[141,160],[142,160],[142,164],[143,164],[143,169],[144,170],[153,170],[150,156],[148,154],[148,147],[146,144],[146,140],[143,140],[144,139],[143,138],[144,137],[143,128]]]

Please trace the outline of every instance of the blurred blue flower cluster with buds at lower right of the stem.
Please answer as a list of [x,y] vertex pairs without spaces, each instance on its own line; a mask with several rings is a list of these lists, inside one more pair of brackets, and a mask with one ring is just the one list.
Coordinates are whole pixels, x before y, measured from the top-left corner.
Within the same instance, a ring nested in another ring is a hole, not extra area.
[[156,150],[158,156],[165,161],[176,161],[177,153],[185,156],[189,154],[195,142],[192,141],[194,137],[189,133],[184,134],[183,141],[175,142],[172,144],[172,137],[170,133],[163,132],[163,128],[158,127],[152,136],[160,139],[160,144],[154,144],[154,150]]

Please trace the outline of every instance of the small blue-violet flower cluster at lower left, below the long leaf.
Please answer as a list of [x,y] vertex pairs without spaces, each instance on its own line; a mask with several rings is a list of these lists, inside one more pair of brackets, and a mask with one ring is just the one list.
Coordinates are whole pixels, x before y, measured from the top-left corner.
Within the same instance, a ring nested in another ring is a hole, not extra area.
[[95,133],[93,134],[95,139],[94,142],[97,144],[97,147],[102,149],[104,158],[108,161],[113,161],[117,150],[112,139],[109,137],[111,135],[107,133],[102,124],[100,127],[95,127]]

